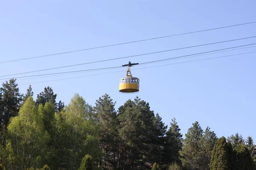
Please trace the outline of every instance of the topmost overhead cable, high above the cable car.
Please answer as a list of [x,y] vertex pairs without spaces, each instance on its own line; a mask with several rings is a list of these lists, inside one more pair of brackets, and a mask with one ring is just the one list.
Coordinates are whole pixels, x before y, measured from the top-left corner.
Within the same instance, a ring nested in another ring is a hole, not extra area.
[[130,43],[134,43],[134,42],[156,40],[156,39],[167,38],[167,37],[175,37],[175,36],[178,36],[178,35],[193,34],[193,33],[204,32],[204,31],[211,31],[211,30],[222,29],[222,28],[242,26],[242,25],[247,25],[247,24],[252,24],[252,23],[256,23],[256,21],[250,22],[250,23],[236,24],[236,25],[231,25],[231,26],[223,26],[223,27],[218,27],[218,28],[210,28],[210,29],[205,29],[205,30],[200,30],[200,31],[186,32],[186,33],[181,33],[181,34],[167,35],[167,36],[163,36],[163,37],[155,37],[155,38],[149,38],[149,39],[137,40],[137,41],[130,41],[130,42],[122,42],[122,43],[118,43],[118,44],[104,45],[104,46],[98,46],[98,47],[93,47],[93,48],[85,48],[85,49],[75,50],[75,51],[67,51],[67,52],[56,53],[56,54],[48,54],[48,55],[37,56],[37,57],[29,57],[29,58],[23,58],[23,59],[9,60],[9,61],[0,62],[0,64],[1,63],[6,63],[6,62],[15,62],[15,61],[20,61],[20,60],[26,60],[26,59],[35,59],[35,58],[48,57],[48,56],[54,56],[54,55],[60,55],[60,54],[74,53],[74,52],[79,52],[79,51],[92,50],[92,49],[96,49],[96,48],[105,48],[105,47],[111,47],[111,46],[116,46],[116,45],[130,44]]

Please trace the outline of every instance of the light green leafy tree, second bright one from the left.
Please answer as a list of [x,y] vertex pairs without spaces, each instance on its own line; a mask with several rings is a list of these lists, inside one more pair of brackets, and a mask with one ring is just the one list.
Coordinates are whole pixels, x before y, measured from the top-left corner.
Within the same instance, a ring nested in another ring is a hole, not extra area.
[[84,154],[92,155],[95,160],[99,158],[99,130],[93,114],[92,106],[79,94],[73,96],[63,111],[55,113],[54,147],[58,151],[57,167],[78,169]]

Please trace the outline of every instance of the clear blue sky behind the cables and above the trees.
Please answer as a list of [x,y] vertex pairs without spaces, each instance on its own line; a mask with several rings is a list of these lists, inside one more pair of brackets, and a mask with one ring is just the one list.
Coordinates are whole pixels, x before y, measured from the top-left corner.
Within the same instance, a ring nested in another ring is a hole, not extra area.
[[[186,2],[167,0],[2,1],[0,5],[0,61],[253,22],[256,21],[255,6],[256,1],[254,0],[236,2],[233,0]],[[0,64],[0,75],[256,36],[255,30],[256,24],[250,24],[3,63]],[[255,42],[256,38],[253,38],[35,74],[121,66],[129,61],[141,63]],[[133,67],[133,69],[251,51],[256,51],[256,48],[141,65]],[[253,53],[132,70],[133,76],[140,78],[140,93],[138,94],[120,94],[118,92],[119,79],[125,77],[126,68],[23,79],[17,82],[27,84],[124,70],[121,73],[31,85],[35,93],[34,97],[43,91],[45,86],[50,86],[58,94],[58,100],[61,99],[65,104],[70,102],[75,93],[79,93],[91,105],[94,105],[99,96],[108,93],[116,101],[116,108],[118,108],[126,100],[133,99],[138,95],[141,99],[149,102],[151,109],[160,114],[165,124],[169,125],[171,119],[175,117],[183,135],[192,126],[192,123],[198,121],[203,129],[207,125],[211,127],[217,136],[227,137],[237,132],[244,138],[251,135],[256,140],[255,55]],[[20,92],[25,94],[28,86],[20,85]]]

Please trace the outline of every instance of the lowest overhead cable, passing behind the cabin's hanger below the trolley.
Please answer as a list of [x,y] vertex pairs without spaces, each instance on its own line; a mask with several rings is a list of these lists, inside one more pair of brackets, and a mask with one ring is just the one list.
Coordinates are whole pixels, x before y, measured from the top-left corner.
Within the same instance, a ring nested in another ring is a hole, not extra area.
[[[256,51],[248,52],[248,53],[242,53],[242,54],[250,54],[250,53],[256,53]],[[151,66],[151,67],[135,68],[135,69],[133,69],[133,70],[140,70],[140,69],[145,69],[145,68],[161,67],[161,66],[166,66],[166,65],[182,64],[182,63],[187,63],[187,62],[203,61],[203,60],[208,60],[208,59],[216,59],[216,58],[230,57],[230,56],[236,56],[236,55],[242,55],[242,54],[233,54],[233,55],[227,55],[227,56],[221,56],[221,57],[212,57],[212,58],[206,58],[206,59],[197,59],[197,60],[192,60],[192,61],[176,62],[176,63],[165,64],[165,65],[155,65],[155,66]],[[81,77],[90,77],[90,76],[97,76],[97,75],[111,74],[111,73],[119,73],[119,72],[123,72],[123,71],[113,71],[113,72],[108,72],[108,73],[92,74],[92,75],[79,76],[79,77],[70,77],[70,78],[64,78],[64,79],[55,79],[55,80],[48,80],[48,81],[42,81],[42,82],[53,82],[53,81],[59,81],[59,80],[65,80],[65,79],[76,79],[76,78],[81,78]],[[31,85],[31,84],[42,83],[42,82],[33,82],[33,83],[26,83],[26,84],[20,84],[20,85]]]

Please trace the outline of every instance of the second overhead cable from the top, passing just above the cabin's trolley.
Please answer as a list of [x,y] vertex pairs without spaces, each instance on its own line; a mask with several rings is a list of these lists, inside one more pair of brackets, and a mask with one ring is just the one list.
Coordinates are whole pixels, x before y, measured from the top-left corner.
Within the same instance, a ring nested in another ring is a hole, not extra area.
[[253,36],[253,37],[245,37],[245,38],[239,38],[239,39],[234,39],[234,40],[227,40],[227,41],[220,41],[220,42],[212,42],[212,43],[208,43],[208,44],[194,45],[194,46],[183,47],[183,48],[175,48],[175,49],[164,50],[164,51],[156,51],[156,52],[145,53],[145,54],[137,54],[137,55],[126,56],[126,57],[119,57],[119,58],[113,58],[113,59],[105,59],[105,60],[99,60],[99,61],[94,61],[94,62],[86,62],[86,63],[81,63],[81,64],[75,64],[75,65],[66,65],[66,66],[62,66],[62,67],[47,68],[47,69],[43,69],[43,70],[28,71],[28,72],[17,73],[17,74],[9,74],[9,75],[0,76],[0,77],[14,76],[14,75],[19,75],[19,74],[27,74],[27,73],[34,73],[34,72],[38,72],[38,71],[47,71],[47,70],[53,70],[53,69],[58,69],[58,68],[67,68],[67,67],[73,67],[73,66],[78,66],[78,65],[92,64],[92,63],[96,63],[96,62],[111,61],[111,60],[116,60],[116,59],[124,59],[124,58],[130,58],[130,57],[138,57],[138,56],[149,55],[149,54],[157,54],[157,53],[163,53],[163,52],[168,52],[168,51],[181,50],[181,49],[186,49],[186,48],[194,48],[194,47],[200,47],[200,46],[205,46],[205,45],[218,44],[218,43],[223,43],[223,42],[231,42],[231,41],[237,41],[237,40],[245,40],[245,39],[250,39],[250,38],[255,38],[255,37],[256,37],[256,36]]

